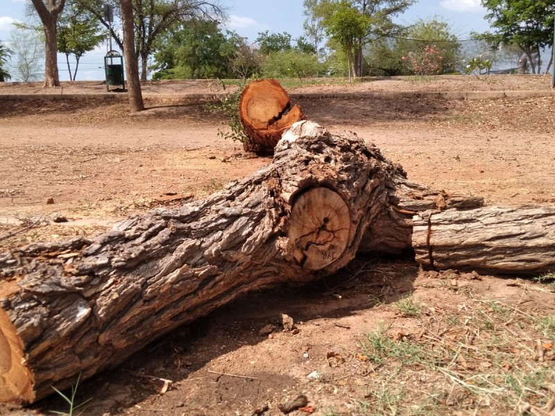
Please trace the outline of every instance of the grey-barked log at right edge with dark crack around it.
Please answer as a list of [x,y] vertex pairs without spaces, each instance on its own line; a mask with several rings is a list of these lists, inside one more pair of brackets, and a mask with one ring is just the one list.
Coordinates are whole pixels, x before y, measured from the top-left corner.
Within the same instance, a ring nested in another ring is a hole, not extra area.
[[555,207],[425,211],[413,219],[416,261],[430,268],[555,270]]

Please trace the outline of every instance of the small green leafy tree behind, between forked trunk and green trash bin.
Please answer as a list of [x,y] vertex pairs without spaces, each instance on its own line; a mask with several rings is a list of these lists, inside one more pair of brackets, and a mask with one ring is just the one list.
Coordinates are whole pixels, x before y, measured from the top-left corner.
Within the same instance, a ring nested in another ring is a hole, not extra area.
[[[86,10],[81,11],[74,7],[66,8],[58,20],[58,51],[65,54],[69,80],[75,80],[80,58],[85,53],[99,46],[106,35],[102,33],[102,26]],[[71,73],[69,56],[75,58],[75,70]]]

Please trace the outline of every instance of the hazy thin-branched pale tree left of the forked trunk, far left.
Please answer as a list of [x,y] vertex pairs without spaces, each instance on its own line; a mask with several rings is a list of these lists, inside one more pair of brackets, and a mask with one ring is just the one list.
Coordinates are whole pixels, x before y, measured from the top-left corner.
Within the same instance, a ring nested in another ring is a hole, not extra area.
[[44,42],[35,28],[15,24],[10,35],[10,74],[13,78],[28,82],[40,79],[44,62]]

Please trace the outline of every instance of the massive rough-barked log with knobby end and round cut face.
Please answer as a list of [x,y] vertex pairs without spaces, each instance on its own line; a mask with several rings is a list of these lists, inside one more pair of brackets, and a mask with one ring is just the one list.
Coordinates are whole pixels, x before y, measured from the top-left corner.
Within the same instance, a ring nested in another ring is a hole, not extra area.
[[0,254],[0,401],[67,388],[246,291],[345,266],[394,174],[355,134],[297,123],[272,164],[210,198]]

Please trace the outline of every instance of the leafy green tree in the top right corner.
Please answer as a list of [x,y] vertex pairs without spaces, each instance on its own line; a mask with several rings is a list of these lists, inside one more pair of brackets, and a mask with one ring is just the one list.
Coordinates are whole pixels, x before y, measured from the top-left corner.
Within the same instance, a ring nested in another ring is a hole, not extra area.
[[[553,46],[555,2],[552,0],[482,0],[497,45],[518,45],[532,73],[540,72],[541,50]],[[537,71],[536,71],[537,70]]]

